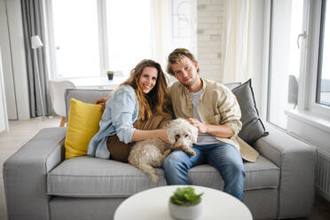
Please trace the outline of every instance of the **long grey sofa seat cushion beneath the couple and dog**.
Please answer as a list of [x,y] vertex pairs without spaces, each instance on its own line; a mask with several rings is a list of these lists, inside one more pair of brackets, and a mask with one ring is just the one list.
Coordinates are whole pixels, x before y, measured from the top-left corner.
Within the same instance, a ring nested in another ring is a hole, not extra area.
[[[271,161],[259,156],[255,163],[244,163],[246,181],[244,190],[277,188],[279,168]],[[141,170],[128,163],[104,160],[88,156],[63,161],[47,176],[47,192],[50,195],[67,197],[128,197],[134,193],[166,185],[164,172],[158,185],[153,185]],[[223,180],[219,172],[210,165],[200,165],[189,170],[193,185],[222,189]]]

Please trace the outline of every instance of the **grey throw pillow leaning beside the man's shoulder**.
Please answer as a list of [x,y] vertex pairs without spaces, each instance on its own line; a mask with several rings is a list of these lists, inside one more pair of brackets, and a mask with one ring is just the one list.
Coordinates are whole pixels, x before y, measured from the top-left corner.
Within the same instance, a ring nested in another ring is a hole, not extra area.
[[249,145],[253,145],[258,138],[267,136],[269,133],[265,131],[263,122],[259,118],[258,110],[255,106],[255,95],[251,86],[251,79],[232,89],[232,93],[236,96],[240,104],[240,112],[242,114],[240,122],[243,126],[239,136]]

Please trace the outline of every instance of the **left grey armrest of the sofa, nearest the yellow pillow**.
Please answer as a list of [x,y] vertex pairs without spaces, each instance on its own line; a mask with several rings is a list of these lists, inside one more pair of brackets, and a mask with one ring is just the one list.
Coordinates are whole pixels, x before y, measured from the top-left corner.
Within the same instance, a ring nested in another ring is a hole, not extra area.
[[4,162],[8,219],[50,219],[47,173],[64,160],[66,128],[40,130]]

